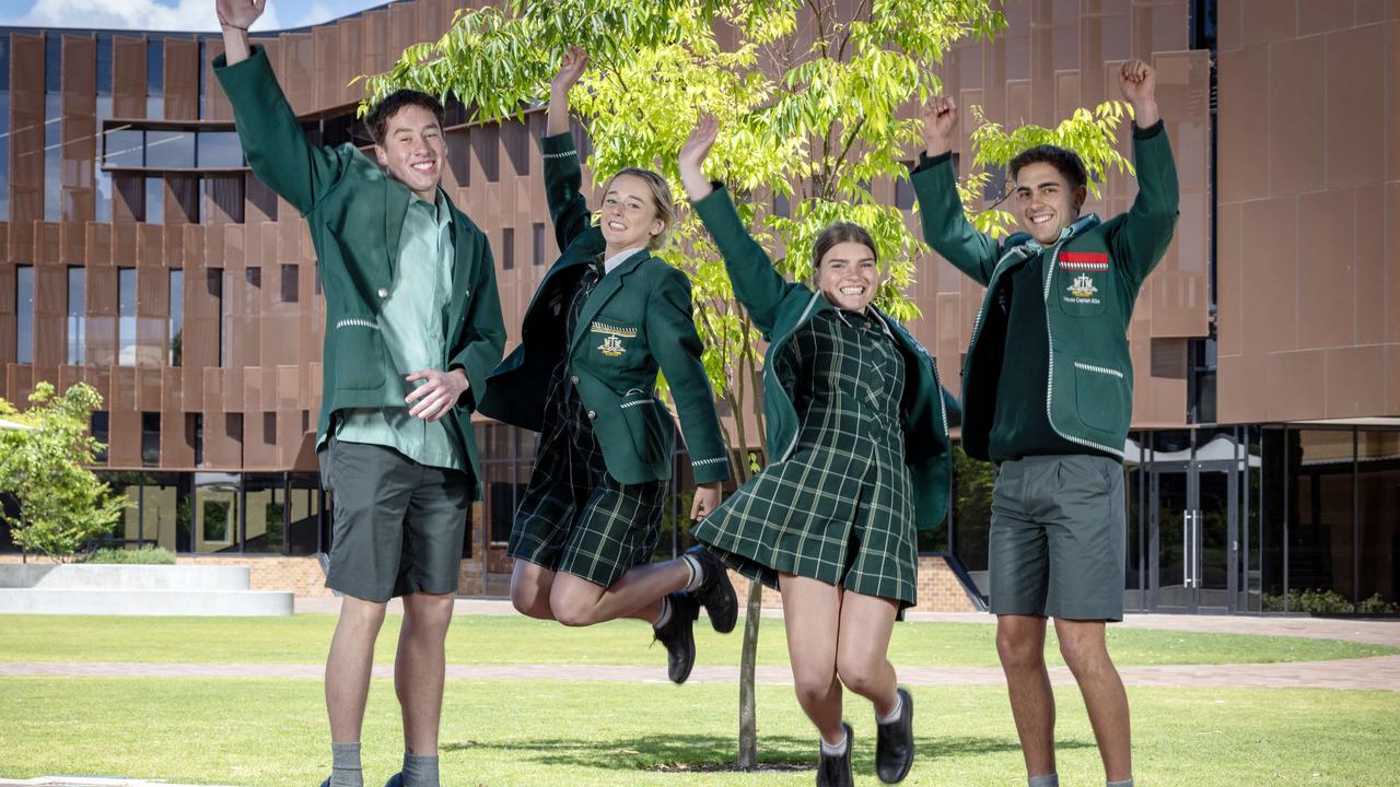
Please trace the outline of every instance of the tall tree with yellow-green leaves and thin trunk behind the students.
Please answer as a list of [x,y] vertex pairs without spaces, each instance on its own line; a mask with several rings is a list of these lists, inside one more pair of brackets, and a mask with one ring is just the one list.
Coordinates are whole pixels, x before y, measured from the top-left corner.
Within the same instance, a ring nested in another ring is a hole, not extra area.
[[[941,90],[937,69],[965,38],[1005,27],[991,0],[503,0],[459,11],[437,41],[407,48],[388,71],[365,80],[361,111],[399,87],[466,106],[475,123],[521,120],[549,95],[568,46],[591,67],[573,106],[592,132],[594,172],[658,169],[679,186],[676,154],[701,113],[725,134],[708,174],[729,183],[742,220],[770,249],[791,249],[774,266],[785,279],[811,276],[813,238],[833,221],[874,237],[883,265],[876,305],[918,319],[904,294],[927,246],[907,217],[872,195],[876,181],[906,175],[920,147],[917,106]],[[1095,179],[1127,161],[1114,148],[1120,102],[1077,111],[1054,129],[1007,132],[983,123],[960,188],[983,193],[1019,146],[1056,140],[1077,150]],[[965,204],[976,204],[972,199]],[[972,211],[983,231],[1011,224],[993,206]],[[658,252],[692,280],[706,370],[728,403],[742,448],[738,479],[769,455],[760,399],[760,336],[734,300],[724,263],[700,223],[687,216],[676,242]],[[745,409],[757,423],[749,434]],[[741,668],[739,765],[756,763],[753,665],[759,588],[750,590]]]

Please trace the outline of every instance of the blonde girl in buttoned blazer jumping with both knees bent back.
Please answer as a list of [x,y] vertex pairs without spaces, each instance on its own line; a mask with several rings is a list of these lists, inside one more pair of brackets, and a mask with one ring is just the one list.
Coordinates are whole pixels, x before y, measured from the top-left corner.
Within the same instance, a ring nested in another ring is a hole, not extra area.
[[703,549],[650,563],[675,443],[671,413],[654,396],[658,371],[690,452],[692,518],[718,506],[729,459],[700,363],[690,283],[650,253],[675,221],[665,179],[636,168],[613,175],[598,224],[578,190],[568,90],[587,62],[577,48],[564,56],[542,143],[563,255],[531,300],[519,346],[491,372],[482,412],[540,433],[508,546],[515,608],[566,626],[645,620],[680,683],[694,664],[699,608],[727,633],[738,599],[724,567]]

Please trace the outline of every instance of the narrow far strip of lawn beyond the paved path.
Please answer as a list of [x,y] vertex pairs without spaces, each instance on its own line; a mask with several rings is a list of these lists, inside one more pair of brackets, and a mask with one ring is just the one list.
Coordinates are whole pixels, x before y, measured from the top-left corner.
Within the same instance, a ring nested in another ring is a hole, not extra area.
[[[393,658],[400,616],[389,616],[375,660]],[[137,661],[192,664],[319,664],[325,660],[333,615],[291,618],[73,618],[0,616],[0,661]],[[741,632],[720,636],[697,622],[699,664],[738,664]],[[1053,640],[1053,633],[1051,633]],[[665,664],[661,646],[638,622],[587,629],[515,616],[461,616],[448,636],[452,664]],[[1119,664],[1246,664],[1361,658],[1396,648],[1306,640],[1109,629]],[[650,646],[650,647],[648,647]],[[1051,641],[1050,658],[1058,664]],[[900,623],[890,661],[909,667],[994,667],[993,627],[980,623]],[[787,664],[780,620],[767,619],[759,636],[759,664]]]

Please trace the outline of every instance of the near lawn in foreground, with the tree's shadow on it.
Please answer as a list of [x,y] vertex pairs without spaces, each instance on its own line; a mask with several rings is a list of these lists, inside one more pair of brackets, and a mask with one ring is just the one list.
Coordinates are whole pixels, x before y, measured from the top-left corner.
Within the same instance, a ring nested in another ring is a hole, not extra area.
[[[1021,755],[998,688],[913,689],[918,760],[906,784],[1005,787]],[[1144,787],[1393,783],[1400,693],[1133,689]],[[251,787],[319,783],[329,746],[315,681],[0,679],[0,777],[84,773]],[[686,773],[734,756],[734,686],[610,682],[448,683],[444,783],[454,787],[808,786],[812,772]],[[1058,692],[1060,773],[1102,784],[1078,693]],[[872,718],[851,703],[858,784],[878,784]],[[365,783],[398,769],[392,686],[377,681]],[[759,688],[762,760],[815,758],[791,690]],[[682,769],[658,772],[658,766]]]

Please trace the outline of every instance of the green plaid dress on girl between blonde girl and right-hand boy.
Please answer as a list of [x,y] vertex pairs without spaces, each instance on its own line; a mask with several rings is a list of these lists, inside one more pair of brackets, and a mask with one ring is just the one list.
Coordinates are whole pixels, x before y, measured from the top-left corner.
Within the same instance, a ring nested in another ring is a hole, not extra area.
[[904,358],[875,316],[818,312],[792,336],[801,427],[770,464],[694,528],[741,574],[797,574],[910,606],[918,553],[904,466]]

